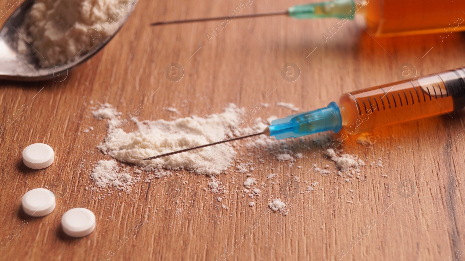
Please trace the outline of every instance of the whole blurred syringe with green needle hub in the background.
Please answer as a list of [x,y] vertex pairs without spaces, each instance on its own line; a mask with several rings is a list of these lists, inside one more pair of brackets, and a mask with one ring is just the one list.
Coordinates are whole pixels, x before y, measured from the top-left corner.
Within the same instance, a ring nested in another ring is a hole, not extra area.
[[224,20],[224,23],[229,23],[237,18],[286,14],[297,19],[341,19],[330,26],[328,32],[323,32],[332,34],[347,20],[353,19],[354,14],[361,14],[362,17],[365,16],[367,31],[374,36],[440,33],[439,36],[444,39],[455,31],[465,30],[465,13],[461,12],[465,10],[465,1],[461,0],[334,0],[297,5],[284,11],[239,15],[249,4],[252,4],[252,0],[241,2],[229,16],[163,21],[152,25],[210,20]]

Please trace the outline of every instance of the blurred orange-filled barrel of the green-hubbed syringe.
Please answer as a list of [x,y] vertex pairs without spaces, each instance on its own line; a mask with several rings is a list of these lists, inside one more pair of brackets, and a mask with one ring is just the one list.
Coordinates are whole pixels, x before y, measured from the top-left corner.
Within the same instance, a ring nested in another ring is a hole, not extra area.
[[[464,0],[365,0],[366,23],[376,36],[465,31]],[[462,12],[463,11],[463,12]]]

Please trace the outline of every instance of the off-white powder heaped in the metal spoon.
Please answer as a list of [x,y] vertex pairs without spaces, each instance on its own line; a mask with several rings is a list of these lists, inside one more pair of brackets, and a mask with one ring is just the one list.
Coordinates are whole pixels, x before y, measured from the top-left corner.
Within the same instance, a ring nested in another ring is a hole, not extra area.
[[[135,0],[36,0],[22,36],[32,44],[43,67],[66,63],[100,44],[129,15]],[[27,44],[18,36],[18,49]]]

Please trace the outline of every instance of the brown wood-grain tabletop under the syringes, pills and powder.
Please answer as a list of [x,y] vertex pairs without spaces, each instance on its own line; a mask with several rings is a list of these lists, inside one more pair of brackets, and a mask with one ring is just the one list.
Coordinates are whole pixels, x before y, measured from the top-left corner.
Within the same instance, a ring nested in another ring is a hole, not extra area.
[[[0,0],[0,7],[8,2]],[[209,42],[206,34],[216,22],[149,26],[158,20],[227,14],[239,3],[140,1],[103,51],[63,81],[1,82],[2,260],[460,258],[465,251],[465,139],[457,137],[464,137],[463,112],[370,132],[376,140],[372,146],[349,137],[341,147],[345,152],[368,157],[368,163],[381,158],[383,164],[367,164],[363,178],[350,183],[335,174],[309,172],[315,163],[331,164],[319,147],[307,150],[289,140],[292,150],[305,156],[292,168],[270,152],[253,150],[266,159],[265,165],[279,170],[273,180],[266,179],[268,170],[252,172],[259,184],[267,184],[254,207],[242,197],[245,175],[234,168],[219,176],[227,188],[221,202],[227,209],[215,202],[217,194],[203,189],[208,177],[187,172],[178,173],[181,178],[139,182],[127,195],[85,189],[94,186],[89,178],[93,165],[109,158],[96,149],[106,126],[92,117],[91,101],[113,104],[123,113],[143,104],[141,120],[170,120],[173,113],[163,110],[167,106],[186,117],[220,112],[228,103],[245,108],[269,103],[257,116],[284,117],[291,111],[275,106],[277,102],[293,103],[302,111],[316,109],[345,91],[398,81],[404,63],[412,64],[419,76],[465,65],[463,33],[452,33],[443,42],[437,34],[373,39],[347,22],[325,42],[322,34],[337,20],[278,16],[232,20]],[[241,13],[284,10],[298,3],[253,1]],[[177,82],[165,76],[170,63],[183,67]],[[299,67],[296,81],[281,76],[286,63]],[[27,109],[17,116],[23,106]],[[94,130],[83,132],[89,126]],[[133,130],[133,125],[125,128]],[[33,143],[53,147],[52,166],[29,170],[22,164],[21,151]],[[312,193],[294,193],[292,187],[289,196],[288,174],[299,176],[297,192],[305,192],[305,181],[319,185]],[[53,189],[56,209],[42,218],[29,217],[20,210],[21,196],[41,187]],[[288,215],[268,209],[270,199],[278,197],[286,202]],[[81,239],[67,237],[60,228],[62,214],[75,207],[91,209],[97,219],[95,231]],[[131,229],[140,223],[134,233]]]

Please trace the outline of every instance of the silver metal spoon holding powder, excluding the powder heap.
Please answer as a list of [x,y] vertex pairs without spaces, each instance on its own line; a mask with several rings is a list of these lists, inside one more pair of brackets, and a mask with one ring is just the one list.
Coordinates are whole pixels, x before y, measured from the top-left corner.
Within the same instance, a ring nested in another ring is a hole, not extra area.
[[[18,30],[21,24],[26,20],[26,16],[31,9],[34,0],[26,0],[16,9],[10,16],[2,30],[0,31],[0,79],[8,79],[15,81],[40,81],[53,79],[58,76],[67,75],[76,66],[81,65],[87,59],[90,59],[94,54],[100,51],[112,38],[118,33],[121,26],[126,23],[129,15],[133,13],[136,2],[129,4],[127,10],[118,17],[112,26],[118,26],[113,35],[108,36],[103,41],[93,46],[88,52],[81,56],[76,56],[65,64],[41,67],[39,60],[34,55],[32,46],[29,49],[32,52],[27,52],[26,55],[18,52]],[[21,36],[19,36],[21,37]],[[90,37],[90,36],[89,36]]]

